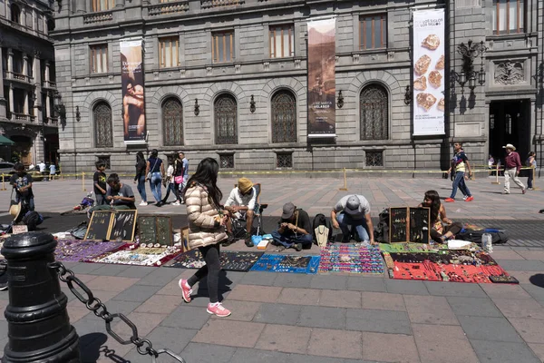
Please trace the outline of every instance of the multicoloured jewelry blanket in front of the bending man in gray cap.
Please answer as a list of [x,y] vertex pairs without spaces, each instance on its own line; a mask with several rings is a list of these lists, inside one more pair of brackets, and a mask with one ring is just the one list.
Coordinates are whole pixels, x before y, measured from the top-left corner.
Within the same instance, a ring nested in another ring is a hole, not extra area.
[[378,247],[329,244],[321,249],[319,272],[384,273]]

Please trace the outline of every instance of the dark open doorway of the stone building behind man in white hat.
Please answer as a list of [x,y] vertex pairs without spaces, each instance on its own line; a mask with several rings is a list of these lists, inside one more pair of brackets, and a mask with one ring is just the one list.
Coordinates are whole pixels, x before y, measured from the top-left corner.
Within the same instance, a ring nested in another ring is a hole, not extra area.
[[495,162],[504,165],[502,146],[511,143],[520,153],[521,162],[530,148],[530,102],[529,100],[492,101],[490,105],[490,154]]

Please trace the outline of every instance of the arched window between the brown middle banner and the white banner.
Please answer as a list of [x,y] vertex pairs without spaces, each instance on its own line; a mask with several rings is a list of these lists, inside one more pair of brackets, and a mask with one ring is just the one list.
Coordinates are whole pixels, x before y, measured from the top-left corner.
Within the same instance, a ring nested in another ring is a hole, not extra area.
[[360,98],[361,140],[389,138],[389,100],[379,84],[364,87]]

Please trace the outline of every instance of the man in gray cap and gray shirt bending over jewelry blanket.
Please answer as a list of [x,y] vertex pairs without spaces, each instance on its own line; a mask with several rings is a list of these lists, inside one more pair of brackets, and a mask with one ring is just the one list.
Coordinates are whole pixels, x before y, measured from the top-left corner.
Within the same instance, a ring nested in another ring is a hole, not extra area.
[[370,203],[364,196],[346,195],[336,203],[335,208],[331,211],[331,220],[333,227],[342,230],[343,243],[349,242],[353,235],[361,242],[374,244],[374,226],[370,219]]

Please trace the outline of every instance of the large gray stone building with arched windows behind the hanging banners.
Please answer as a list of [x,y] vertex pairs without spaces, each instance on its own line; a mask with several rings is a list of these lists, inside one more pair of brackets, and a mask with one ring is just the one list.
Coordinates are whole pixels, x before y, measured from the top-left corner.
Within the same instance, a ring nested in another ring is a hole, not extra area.
[[[59,0],[56,76],[67,110],[64,171],[101,158],[131,172],[135,152],[184,150],[224,170],[444,169],[452,142],[476,164],[502,144],[542,161],[541,0]],[[446,14],[445,135],[413,136],[412,12]],[[334,139],[307,137],[306,24],[336,19]],[[368,37],[369,32],[376,35]],[[148,137],[123,142],[120,41],[142,38]],[[461,87],[458,45],[484,42]],[[278,45],[281,44],[281,45]],[[453,72],[451,72],[453,71]],[[342,96],[340,97],[340,92]],[[362,113],[362,109],[374,113]],[[228,127],[223,128],[225,120]],[[365,131],[364,131],[365,130]],[[367,132],[374,130],[374,132]],[[105,132],[105,133],[104,133]],[[193,162],[193,167],[195,163]]]

